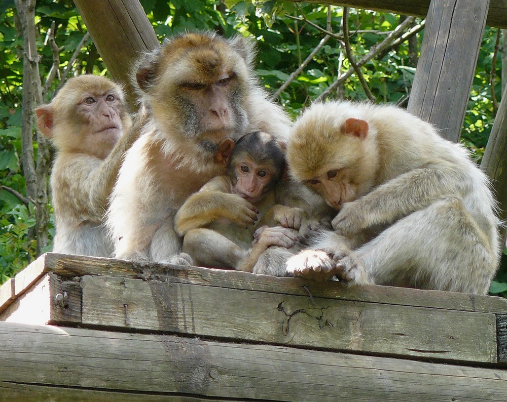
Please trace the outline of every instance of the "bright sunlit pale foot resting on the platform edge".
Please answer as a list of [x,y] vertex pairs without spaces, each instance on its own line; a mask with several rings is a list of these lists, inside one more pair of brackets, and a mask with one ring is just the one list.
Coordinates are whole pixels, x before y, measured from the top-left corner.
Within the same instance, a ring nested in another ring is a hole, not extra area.
[[287,260],[285,273],[323,282],[337,273],[336,262],[321,250],[305,250]]

